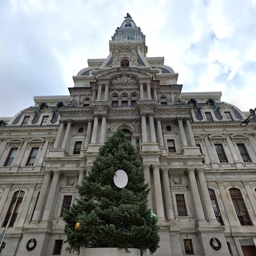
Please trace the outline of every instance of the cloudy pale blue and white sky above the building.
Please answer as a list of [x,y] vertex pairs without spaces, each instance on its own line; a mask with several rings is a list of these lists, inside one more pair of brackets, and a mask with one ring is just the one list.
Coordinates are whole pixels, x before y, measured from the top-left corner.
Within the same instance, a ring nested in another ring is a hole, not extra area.
[[256,107],[256,0],[0,0],[0,117],[68,95],[88,58],[108,56],[127,12],[183,92]]

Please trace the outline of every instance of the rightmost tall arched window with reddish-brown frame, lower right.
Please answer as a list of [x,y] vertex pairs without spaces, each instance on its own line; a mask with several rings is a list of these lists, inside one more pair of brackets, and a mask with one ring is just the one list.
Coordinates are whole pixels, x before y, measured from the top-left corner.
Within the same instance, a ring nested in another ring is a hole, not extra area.
[[236,188],[232,188],[232,189],[229,189],[229,193],[241,225],[252,225],[251,219],[247,212],[247,208],[240,190]]

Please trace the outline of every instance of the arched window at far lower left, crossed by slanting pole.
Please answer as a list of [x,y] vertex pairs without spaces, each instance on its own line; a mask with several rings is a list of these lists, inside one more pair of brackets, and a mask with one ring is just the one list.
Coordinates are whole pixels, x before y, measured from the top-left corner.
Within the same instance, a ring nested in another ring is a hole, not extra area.
[[[24,194],[25,194],[24,191],[21,191],[21,192],[19,193],[19,196],[18,196],[18,192],[15,192],[15,193],[14,193],[14,195],[13,195],[13,197],[12,197],[12,200],[11,200],[11,204],[10,204],[10,206],[9,206],[9,210],[8,210],[8,212],[7,212],[7,215],[6,215],[6,217],[5,217],[5,220],[4,220],[4,222],[3,222],[2,227],[5,227],[5,226],[7,225],[8,221],[9,221],[9,219],[10,219],[10,216],[11,216],[11,212],[12,212],[12,210],[13,210],[13,208],[14,208],[13,215],[12,215],[12,218],[11,218],[10,224],[9,224],[9,227],[13,227],[13,224],[14,224],[14,222],[16,221],[16,218],[17,218],[17,216],[18,216],[18,212],[19,212],[19,210],[20,210],[20,205],[21,205],[22,199],[23,199],[23,197],[24,197]],[[18,201],[17,201],[17,203],[16,203],[16,205],[15,205],[15,202],[16,202],[16,200],[17,200],[17,197],[18,197]],[[15,206],[15,207],[14,207],[14,206]]]

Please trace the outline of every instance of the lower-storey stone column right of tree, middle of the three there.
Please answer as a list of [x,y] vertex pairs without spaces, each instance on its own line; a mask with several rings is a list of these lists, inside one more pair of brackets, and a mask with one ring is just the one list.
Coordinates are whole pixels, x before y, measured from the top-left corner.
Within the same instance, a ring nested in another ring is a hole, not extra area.
[[164,212],[164,203],[161,189],[160,171],[158,165],[153,165],[154,173],[154,184],[155,184],[155,205],[156,205],[156,215],[158,220],[166,221]]

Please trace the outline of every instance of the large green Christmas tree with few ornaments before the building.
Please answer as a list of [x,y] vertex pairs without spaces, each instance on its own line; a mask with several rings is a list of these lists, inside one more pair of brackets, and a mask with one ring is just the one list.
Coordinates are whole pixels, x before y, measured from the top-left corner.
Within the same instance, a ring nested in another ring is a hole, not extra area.
[[[134,146],[119,130],[99,150],[82,186],[77,185],[81,199],[64,212],[68,251],[80,248],[118,247],[149,249],[159,247],[158,226],[147,208],[148,184],[139,172],[140,163]],[[119,170],[128,175],[124,188],[115,185],[113,177]],[[79,223],[79,224],[77,224]],[[75,230],[75,225],[80,225]]]

